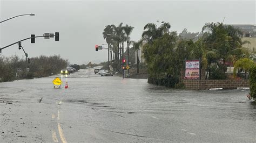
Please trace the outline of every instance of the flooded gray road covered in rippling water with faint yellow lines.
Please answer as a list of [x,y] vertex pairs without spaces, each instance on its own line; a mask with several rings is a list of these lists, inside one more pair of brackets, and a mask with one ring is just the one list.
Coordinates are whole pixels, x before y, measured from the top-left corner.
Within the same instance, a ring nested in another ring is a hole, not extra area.
[[[60,75],[59,75],[60,76]],[[180,90],[82,69],[0,83],[0,142],[256,142],[246,90]]]

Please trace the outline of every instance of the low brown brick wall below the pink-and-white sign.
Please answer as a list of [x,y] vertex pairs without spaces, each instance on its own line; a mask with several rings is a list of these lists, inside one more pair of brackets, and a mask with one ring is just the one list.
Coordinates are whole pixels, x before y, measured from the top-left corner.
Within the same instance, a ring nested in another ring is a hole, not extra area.
[[249,80],[182,80],[186,89],[248,88]]

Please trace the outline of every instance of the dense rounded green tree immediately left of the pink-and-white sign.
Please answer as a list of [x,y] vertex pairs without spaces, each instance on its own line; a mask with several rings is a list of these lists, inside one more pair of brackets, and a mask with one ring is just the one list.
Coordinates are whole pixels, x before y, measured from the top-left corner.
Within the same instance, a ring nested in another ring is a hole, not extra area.
[[174,87],[174,84],[178,82],[180,70],[177,65],[182,63],[176,61],[178,56],[176,53],[177,39],[176,32],[165,33],[162,37],[154,40],[152,44],[145,44],[143,47],[149,76],[159,85]]

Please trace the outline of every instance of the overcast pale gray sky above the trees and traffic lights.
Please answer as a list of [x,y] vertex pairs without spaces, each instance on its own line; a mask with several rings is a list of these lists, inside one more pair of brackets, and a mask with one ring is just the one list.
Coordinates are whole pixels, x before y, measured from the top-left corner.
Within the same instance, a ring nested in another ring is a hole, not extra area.
[[[139,40],[143,27],[157,20],[169,22],[171,31],[200,32],[208,22],[225,24],[255,24],[255,1],[21,1],[0,0],[0,47],[45,32],[59,32],[59,41],[37,38],[22,42],[30,57],[59,54],[70,63],[107,61],[107,51],[95,51],[95,45],[105,44],[106,25],[123,22],[134,27],[132,40]],[[2,56],[23,56],[18,45],[3,49]]]

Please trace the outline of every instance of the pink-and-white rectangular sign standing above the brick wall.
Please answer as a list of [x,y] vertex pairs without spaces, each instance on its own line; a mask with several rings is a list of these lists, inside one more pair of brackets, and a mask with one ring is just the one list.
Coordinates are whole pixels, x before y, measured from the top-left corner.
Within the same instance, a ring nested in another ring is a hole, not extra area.
[[200,76],[200,62],[199,60],[186,60],[185,78],[199,79]]

